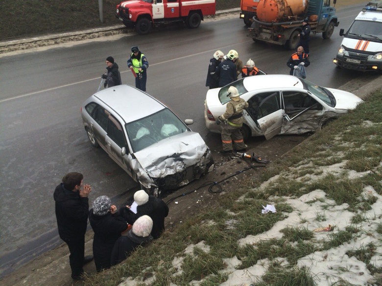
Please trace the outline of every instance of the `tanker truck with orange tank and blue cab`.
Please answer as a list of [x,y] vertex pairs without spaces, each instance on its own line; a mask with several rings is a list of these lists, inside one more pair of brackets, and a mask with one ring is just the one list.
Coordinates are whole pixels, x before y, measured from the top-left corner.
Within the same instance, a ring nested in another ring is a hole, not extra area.
[[[311,33],[329,39],[339,22],[331,0],[260,0],[256,17],[248,28],[255,42],[284,45],[294,50],[300,41],[303,20],[308,19]],[[335,5],[336,0],[332,0]]]

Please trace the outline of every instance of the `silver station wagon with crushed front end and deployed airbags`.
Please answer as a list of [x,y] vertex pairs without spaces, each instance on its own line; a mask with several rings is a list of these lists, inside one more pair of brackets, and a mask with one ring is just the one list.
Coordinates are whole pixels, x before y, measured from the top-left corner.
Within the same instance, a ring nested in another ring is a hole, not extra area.
[[174,190],[214,169],[199,133],[143,91],[120,85],[89,97],[81,108],[89,140],[148,193]]

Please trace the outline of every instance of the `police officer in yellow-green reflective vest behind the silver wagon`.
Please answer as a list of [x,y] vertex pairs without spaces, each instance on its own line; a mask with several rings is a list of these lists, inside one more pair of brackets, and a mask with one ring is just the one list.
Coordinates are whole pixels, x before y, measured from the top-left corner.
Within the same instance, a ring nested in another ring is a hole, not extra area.
[[130,59],[127,60],[127,66],[137,75],[135,78],[135,87],[146,92],[146,70],[148,68],[147,59],[139,50],[138,46],[133,46],[131,51],[132,53],[130,55]]

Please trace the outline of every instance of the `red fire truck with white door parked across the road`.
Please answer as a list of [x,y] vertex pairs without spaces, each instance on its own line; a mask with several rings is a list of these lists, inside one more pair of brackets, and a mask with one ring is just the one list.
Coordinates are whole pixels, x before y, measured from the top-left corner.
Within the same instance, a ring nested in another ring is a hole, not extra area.
[[215,9],[215,0],[127,0],[117,5],[116,17],[144,35],[153,25],[169,22],[197,28],[204,16],[215,14]]

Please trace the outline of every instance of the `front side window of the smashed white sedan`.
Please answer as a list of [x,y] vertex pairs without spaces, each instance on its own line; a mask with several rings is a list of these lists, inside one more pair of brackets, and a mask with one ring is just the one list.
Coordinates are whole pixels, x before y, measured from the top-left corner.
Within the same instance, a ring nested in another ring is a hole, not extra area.
[[321,105],[309,94],[300,91],[283,91],[285,112],[293,119],[303,110],[319,110]]

